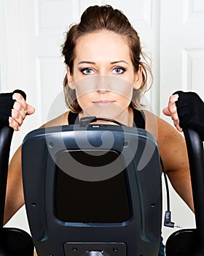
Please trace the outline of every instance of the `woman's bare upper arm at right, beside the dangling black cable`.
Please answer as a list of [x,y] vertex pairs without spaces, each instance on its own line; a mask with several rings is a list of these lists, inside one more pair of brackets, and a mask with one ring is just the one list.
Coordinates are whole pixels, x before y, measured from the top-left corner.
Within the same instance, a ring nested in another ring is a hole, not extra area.
[[[189,208],[194,211],[189,159],[184,137],[162,118],[156,118],[157,142],[170,183]],[[146,120],[147,129],[148,119]]]

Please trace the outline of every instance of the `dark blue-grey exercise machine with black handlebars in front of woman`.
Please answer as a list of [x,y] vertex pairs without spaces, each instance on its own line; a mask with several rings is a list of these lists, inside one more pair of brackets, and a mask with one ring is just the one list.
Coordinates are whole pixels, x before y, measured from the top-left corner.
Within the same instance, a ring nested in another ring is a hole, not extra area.
[[[149,132],[92,124],[30,132],[22,154],[32,238],[2,224],[12,133],[10,127],[0,129],[1,256],[30,256],[34,245],[39,256],[157,256],[162,219],[160,155]],[[173,233],[166,255],[203,256],[203,142],[191,129],[184,130],[184,135],[196,228]],[[144,164],[141,159],[146,157]],[[72,172],[66,170],[67,165]],[[96,168],[102,176],[95,173]]]

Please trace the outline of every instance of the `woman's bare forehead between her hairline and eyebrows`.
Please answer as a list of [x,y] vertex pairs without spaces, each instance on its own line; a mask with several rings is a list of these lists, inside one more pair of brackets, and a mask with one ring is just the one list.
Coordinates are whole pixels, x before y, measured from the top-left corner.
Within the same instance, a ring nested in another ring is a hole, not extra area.
[[96,31],[85,34],[76,41],[76,59],[128,59],[130,47],[127,39],[112,31]]

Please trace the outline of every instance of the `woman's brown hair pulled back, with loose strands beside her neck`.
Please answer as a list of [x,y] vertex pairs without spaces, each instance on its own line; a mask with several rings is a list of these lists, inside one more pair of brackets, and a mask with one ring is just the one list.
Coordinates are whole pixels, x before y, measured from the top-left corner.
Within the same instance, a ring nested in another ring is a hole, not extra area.
[[[133,108],[140,108],[141,94],[147,91],[147,74],[149,73],[152,77],[152,71],[149,64],[145,61],[146,56],[144,56],[141,50],[141,42],[138,33],[133,29],[133,26],[131,26],[129,20],[121,11],[114,9],[110,5],[88,7],[87,10],[83,12],[80,23],[71,26],[66,33],[66,40],[62,45],[64,61],[72,73],[77,39],[85,34],[101,30],[113,31],[125,37],[130,47],[130,58],[135,71],[138,72],[138,68],[141,66],[143,82],[140,89],[133,89],[133,99],[131,102]],[[143,61],[141,61],[141,59],[143,59]],[[77,102],[75,90],[70,89],[68,86],[67,76],[64,78],[63,86],[66,105],[68,105],[71,111],[79,113],[82,109]]]

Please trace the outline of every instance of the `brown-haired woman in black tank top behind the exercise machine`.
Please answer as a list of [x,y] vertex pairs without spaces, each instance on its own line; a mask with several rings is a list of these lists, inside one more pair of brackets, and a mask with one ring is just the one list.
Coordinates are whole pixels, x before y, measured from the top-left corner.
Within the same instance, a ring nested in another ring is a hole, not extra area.
[[[44,126],[73,124],[77,117],[94,115],[149,130],[157,138],[170,182],[193,210],[184,138],[158,116],[141,111],[141,96],[152,73],[141,61],[140,39],[125,15],[110,6],[87,8],[80,23],[67,32],[62,53],[67,67],[63,84],[68,111]],[[22,108],[27,108],[24,102]],[[21,176],[19,148],[9,165],[5,222],[23,206]],[[164,255],[162,244],[158,255]]]

